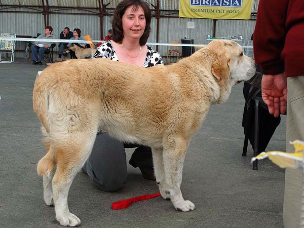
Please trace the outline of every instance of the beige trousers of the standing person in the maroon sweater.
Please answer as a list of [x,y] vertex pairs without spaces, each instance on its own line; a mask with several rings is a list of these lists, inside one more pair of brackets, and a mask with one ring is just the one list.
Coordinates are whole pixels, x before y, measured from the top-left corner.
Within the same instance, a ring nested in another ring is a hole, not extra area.
[[[289,141],[304,141],[304,76],[287,78],[286,151],[294,153]],[[300,227],[302,169],[286,169],[283,220],[285,228]]]

